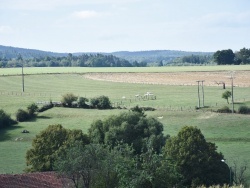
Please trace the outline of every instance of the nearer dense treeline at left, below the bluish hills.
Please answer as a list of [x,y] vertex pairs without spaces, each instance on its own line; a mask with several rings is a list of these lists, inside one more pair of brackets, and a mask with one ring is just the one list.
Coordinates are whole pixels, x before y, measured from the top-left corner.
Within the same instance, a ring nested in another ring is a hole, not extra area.
[[68,54],[66,57],[34,57],[24,59],[21,55],[17,58],[1,58],[0,67],[132,67],[132,64],[124,59],[120,59],[113,55],[102,54],[83,54],[73,56]]

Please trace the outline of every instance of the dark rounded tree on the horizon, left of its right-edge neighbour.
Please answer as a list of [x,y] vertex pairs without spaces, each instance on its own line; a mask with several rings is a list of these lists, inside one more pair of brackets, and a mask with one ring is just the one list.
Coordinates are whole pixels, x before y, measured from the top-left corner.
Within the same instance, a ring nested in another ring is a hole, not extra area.
[[214,60],[218,65],[233,65],[235,54],[231,49],[218,50],[214,53]]

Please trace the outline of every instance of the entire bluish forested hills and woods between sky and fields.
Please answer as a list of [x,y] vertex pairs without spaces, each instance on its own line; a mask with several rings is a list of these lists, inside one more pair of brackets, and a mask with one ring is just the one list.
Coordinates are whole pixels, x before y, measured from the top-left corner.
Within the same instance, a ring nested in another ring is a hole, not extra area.
[[1,67],[20,66],[21,56],[26,66],[164,66],[167,64],[209,64],[212,52],[177,50],[119,51],[112,53],[82,52],[54,53],[0,45]]

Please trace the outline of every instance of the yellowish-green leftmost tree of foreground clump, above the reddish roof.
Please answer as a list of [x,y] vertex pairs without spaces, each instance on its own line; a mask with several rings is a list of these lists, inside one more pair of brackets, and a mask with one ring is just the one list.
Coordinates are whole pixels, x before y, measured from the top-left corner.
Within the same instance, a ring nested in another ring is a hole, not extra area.
[[54,161],[74,142],[89,143],[88,137],[81,130],[67,130],[61,125],[49,125],[36,135],[32,148],[26,153],[26,171],[52,171]]

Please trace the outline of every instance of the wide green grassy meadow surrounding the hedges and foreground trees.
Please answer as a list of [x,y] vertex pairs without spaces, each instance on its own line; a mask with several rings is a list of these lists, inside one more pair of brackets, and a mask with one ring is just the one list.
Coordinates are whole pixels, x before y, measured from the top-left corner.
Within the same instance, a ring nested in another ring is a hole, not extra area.
[[[139,83],[116,83],[86,79],[85,72],[164,72],[165,71],[218,71],[250,70],[250,66],[216,66],[212,67],[164,67],[159,68],[29,68],[25,73],[25,92],[22,93],[22,79],[19,69],[0,69],[0,108],[14,118],[19,108],[25,109],[33,102],[60,101],[63,94],[71,92],[87,98],[105,95],[118,110],[87,110],[53,108],[39,113],[37,119],[19,123],[11,129],[0,132],[0,173],[21,173],[25,168],[25,153],[31,147],[32,139],[50,124],[62,124],[69,129],[88,131],[93,120],[106,118],[111,114],[126,111],[135,105],[150,106],[157,110],[147,112],[148,116],[158,118],[164,125],[164,133],[174,136],[182,126],[193,125],[202,130],[206,139],[215,142],[229,163],[237,160],[248,161],[250,165],[250,116],[240,114],[217,114],[212,112],[227,106],[221,98],[225,91],[221,87],[206,86],[205,106],[197,106],[197,86],[171,86]],[[189,70],[187,70],[189,69]],[[201,70],[203,69],[203,70]],[[30,72],[28,72],[28,70]],[[81,73],[81,74],[76,74]],[[67,73],[67,74],[41,74]],[[152,92],[156,99],[136,99],[135,95]],[[235,109],[242,104],[250,106],[250,87],[235,87]],[[231,107],[231,105],[228,105]],[[27,129],[29,134],[21,131]],[[250,179],[250,167],[248,179]]]

